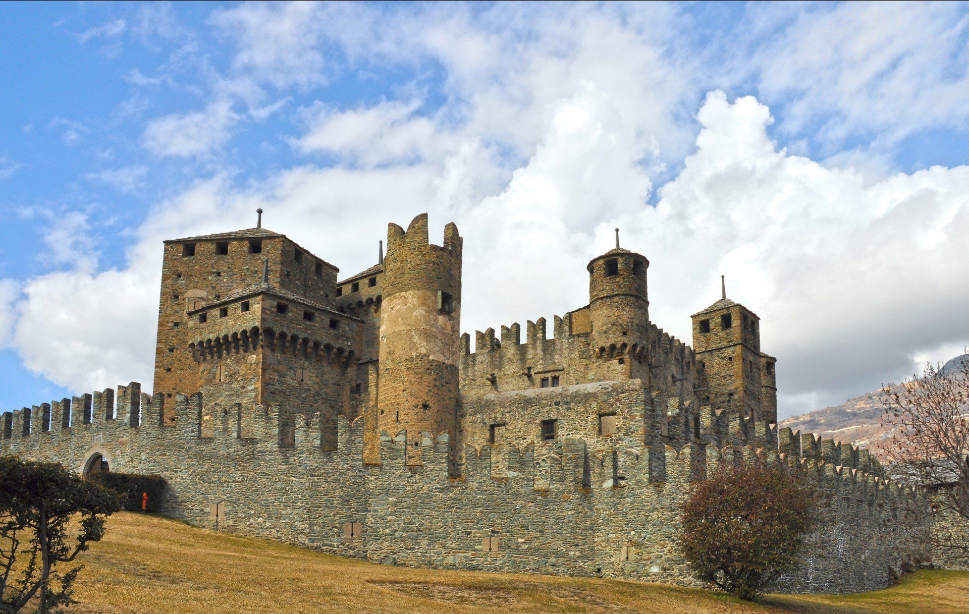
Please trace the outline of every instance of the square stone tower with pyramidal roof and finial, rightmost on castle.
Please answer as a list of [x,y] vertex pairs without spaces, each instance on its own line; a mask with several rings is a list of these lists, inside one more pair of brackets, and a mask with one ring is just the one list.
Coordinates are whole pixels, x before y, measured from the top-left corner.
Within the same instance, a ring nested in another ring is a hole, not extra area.
[[693,348],[703,363],[703,405],[764,419],[761,403],[761,319],[722,296],[693,319]]

